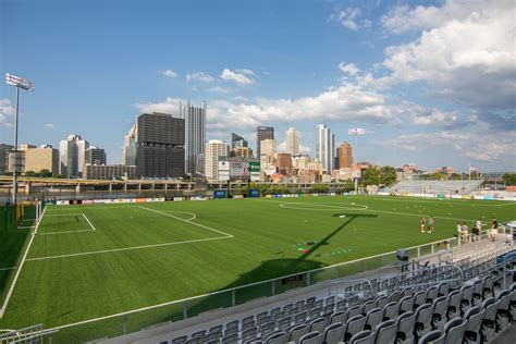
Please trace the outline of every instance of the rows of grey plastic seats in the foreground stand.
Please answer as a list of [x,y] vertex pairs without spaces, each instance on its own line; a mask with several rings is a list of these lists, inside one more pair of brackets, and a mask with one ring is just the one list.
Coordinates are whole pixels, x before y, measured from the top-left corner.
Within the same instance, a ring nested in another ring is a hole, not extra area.
[[[514,271],[516,259],[493,263],[504,251],[487,247],[454,258],[464,271],[478,272],[458,285],[440,267],[422,269],[390,279],[384,290],[378,282],[360,298],[300,299],[169,343],[489,343],[516,321],[516,284],[503,284],[504,278],[513,281],[503,275],[504,265]],[[353,290],[364,291],[364,284]]]

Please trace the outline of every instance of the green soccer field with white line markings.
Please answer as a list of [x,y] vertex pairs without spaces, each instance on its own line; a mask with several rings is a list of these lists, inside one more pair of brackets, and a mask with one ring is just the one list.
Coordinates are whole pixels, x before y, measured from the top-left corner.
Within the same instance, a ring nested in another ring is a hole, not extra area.
[[[331,266],[452,237],[458,221],[514,220],[515,210],[367,196],[49,206],[0,328],[51,328]],[[419,233],[421,216],[434,217],[433,234]],[[0,258],[0,273],[16,272]]]

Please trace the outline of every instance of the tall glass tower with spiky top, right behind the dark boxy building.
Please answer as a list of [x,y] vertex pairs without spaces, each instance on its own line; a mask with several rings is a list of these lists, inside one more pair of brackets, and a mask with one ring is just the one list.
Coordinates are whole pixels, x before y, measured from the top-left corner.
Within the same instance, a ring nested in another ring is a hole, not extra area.
[[185,121],[185,172],[204,174],[206,143],[206,101],[202,108],[180,101],[180,119]]

